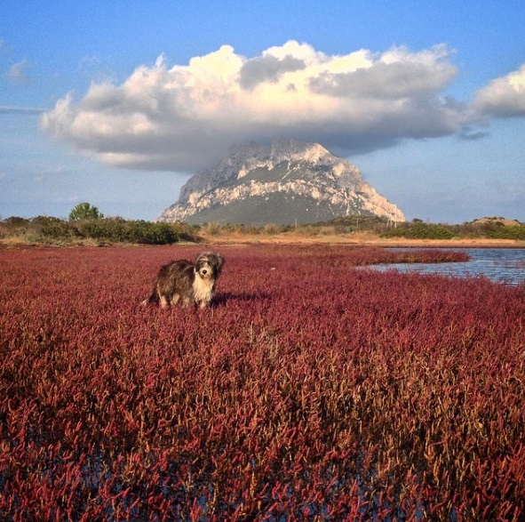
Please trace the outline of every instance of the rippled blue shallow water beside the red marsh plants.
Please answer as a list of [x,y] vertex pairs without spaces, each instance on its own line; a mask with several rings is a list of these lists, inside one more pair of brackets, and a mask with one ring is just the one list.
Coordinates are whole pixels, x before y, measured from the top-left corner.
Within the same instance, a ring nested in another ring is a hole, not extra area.
[[[408,250],[396,248],[394,250]],[[454,263],[395,263],[372,265],[370,268],[398,270],[406,273],[444,274],[451,277],[488,277],[506,285],[525,285],[524,248],[443,248],[466,252],[471,261]]]

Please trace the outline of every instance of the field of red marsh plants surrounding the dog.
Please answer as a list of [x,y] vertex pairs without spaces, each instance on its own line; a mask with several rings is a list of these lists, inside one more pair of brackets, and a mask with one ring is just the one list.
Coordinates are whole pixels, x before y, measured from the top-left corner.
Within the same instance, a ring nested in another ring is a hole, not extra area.
[[140,306],[199,251],[0,251],[0,519],[525,518],[522,286],[224,246],[211,309]]

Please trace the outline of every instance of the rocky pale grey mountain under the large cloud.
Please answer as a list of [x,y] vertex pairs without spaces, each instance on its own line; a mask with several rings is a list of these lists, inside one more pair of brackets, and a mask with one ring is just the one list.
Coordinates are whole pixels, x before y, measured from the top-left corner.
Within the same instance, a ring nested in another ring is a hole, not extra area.
[[318,143],[286,140],[233,147],[192,176],[157,221],[294,224],[350,214],[405,221],[355,165]]

